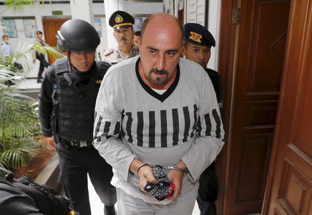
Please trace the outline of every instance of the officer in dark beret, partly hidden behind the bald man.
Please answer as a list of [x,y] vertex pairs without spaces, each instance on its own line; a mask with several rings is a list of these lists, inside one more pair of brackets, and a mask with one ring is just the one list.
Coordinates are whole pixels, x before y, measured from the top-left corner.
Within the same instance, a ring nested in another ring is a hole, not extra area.
[[[201,65],[209,75],[218,105],[222,106],[222,83],[221,76],[217,71],[207,68],[207,63],[211,56],[211,46],[216,46],[216,41],[211,33],[200,24],[187,23],[184,25],[184,42],[182,55],[189,60],[193,60]],[[213,162],[200,175],[200,187],[198,189],[198,207],[201,215],[216,214],[215,200],[218,198],[218,178],[216,176],[216,163]]]

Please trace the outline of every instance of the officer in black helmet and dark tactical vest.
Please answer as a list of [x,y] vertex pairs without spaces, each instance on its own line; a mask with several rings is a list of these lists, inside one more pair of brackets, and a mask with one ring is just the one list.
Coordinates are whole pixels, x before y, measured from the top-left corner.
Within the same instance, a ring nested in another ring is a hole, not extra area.
[[104,214],[115,214],[112,167],[92,146],[96,95],[110,65],[94,61],[100,37],[89,23],[71,19],[56,37],[58,49],[67,57],[56,60],[44,76],[39,96],[42,133],[51,146],[57,144],[62,183],[74,209],[91,214],[88,173],[105,205]]

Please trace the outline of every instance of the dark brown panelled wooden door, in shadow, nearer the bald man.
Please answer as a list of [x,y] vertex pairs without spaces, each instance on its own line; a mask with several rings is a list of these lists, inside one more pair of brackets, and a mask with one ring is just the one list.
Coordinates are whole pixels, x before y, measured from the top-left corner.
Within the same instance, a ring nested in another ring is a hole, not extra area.
[[[223,214],[261,212],[290,0],[241,0]],[[222,61],[222,59],[221,59]]]

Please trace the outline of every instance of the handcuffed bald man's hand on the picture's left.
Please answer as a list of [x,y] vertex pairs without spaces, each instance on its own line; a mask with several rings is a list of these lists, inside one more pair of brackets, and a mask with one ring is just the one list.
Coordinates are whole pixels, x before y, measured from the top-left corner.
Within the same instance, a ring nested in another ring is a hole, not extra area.
[[[141,164],[144,164],[144,162],[141,162],[138,159],[133,160],[130,164],[130,171],[132,171],[132,173],[136,173],[137,168]],[[141,166],[141,168],[137,172],[137,175],[139,176],[139,185],[142,191],[144,191],[144,187],[148,182],[152,182],[153,184],[158,182],[157,179],[154,177],[153,169],[150,168],[150,166],[148,165]]]

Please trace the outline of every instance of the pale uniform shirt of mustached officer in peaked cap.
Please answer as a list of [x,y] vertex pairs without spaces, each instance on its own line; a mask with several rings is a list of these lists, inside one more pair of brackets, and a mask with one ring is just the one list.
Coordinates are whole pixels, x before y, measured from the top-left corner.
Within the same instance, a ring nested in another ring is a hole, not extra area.
[[135,57],[136,55],[139,55],[139,49],[135,48],[135,46],[132,46],[128,55],[124,55],[119,49],[110,49],[104,51],[102,61],[115,65],[117,62]]

